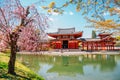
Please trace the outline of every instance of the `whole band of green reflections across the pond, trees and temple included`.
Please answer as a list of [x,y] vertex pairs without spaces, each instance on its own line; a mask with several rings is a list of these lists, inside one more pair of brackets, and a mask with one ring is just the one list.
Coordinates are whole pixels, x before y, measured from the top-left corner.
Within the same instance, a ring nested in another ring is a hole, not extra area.
[[[96,55],[86,54],[80,56],[19,56],[19,60],[22,57],[22,62],[26,62],[28,67],[31,67],[34,71],[40,70],[40,65],[52,65],[47,71],[48,73],[55,72],[60,75],[75,75],[85,74],[85,67],[96,68],[99,72],[110,71],[112,72],[116,67],[115,55]],[[34,69],[33,69],[34,68]],[[93,71],[94,72],[94,71]]]

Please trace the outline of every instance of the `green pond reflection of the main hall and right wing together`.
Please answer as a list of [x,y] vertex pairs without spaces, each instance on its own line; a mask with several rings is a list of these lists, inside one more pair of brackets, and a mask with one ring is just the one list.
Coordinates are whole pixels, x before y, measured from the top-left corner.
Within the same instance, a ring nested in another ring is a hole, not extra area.
[[83,56],[62,56],[54,57],[54,66],[48,72],[57,72],[59,74],[83,74],[84,66],[93,65],[100,66],[100,71],[113,71],[116,62],[113,55],[93,55],[87,54]]

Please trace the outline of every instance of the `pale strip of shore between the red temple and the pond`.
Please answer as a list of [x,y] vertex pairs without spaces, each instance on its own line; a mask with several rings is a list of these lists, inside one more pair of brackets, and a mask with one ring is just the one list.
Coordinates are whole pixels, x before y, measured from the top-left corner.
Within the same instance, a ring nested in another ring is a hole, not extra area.
[[69,56],[84,54],[120,54],[120,51],[40,51],[40,52],[18,52],[18,54],[50,55],[50,56]]

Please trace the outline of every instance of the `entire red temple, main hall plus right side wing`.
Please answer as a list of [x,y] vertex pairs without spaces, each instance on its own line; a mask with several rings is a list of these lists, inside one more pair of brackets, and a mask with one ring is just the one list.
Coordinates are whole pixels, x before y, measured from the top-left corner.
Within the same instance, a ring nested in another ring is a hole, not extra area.
[[81,38],[83,32],[76,32],[75,28],[58,29],[48,33],[54,39],[50,40],[53,49],[81,49],[85,51],[114,50],[115,38],[109,33],[100,33],[99,38]]

